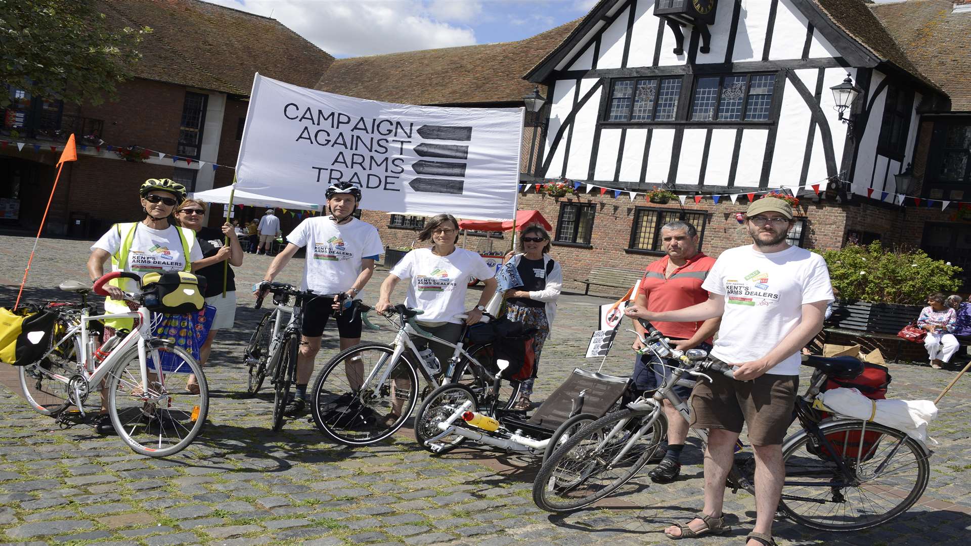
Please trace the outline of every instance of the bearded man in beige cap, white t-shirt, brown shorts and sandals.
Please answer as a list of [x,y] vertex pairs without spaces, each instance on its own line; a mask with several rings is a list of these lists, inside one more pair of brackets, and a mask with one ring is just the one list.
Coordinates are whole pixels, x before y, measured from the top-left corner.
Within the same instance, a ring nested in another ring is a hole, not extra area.
[[721,317],[711,356],[735,366],[735,379],[712,374],[698,381],[691,397],[692,427],[708,428],[705,507],[701,514],[664,533],[671,538],[723,534],[721,505],[735,441],[748,427],[755,453],[755,528],[749,546],[772,545],[772,520],[782,493],[782,443],[799,383],[799,350],[822,329],[833,300],[822,257],[789,246],[792,208],[775,197],[749,205],[745,226],[753,244],[719,256],[704,284],[709,299],[652,313],[638,306],[625,314],[648,321],[692,322]]

